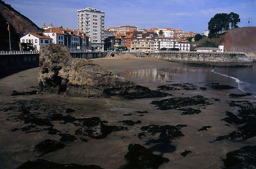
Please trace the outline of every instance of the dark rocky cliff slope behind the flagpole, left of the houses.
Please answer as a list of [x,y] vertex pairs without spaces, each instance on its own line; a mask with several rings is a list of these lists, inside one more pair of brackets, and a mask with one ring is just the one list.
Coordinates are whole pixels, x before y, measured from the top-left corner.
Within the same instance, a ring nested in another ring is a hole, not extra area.
[[42,32],[28,17],[20,14],[9,4],[0,0],[0,50],[9,50],[9,34],[7,31],[7,22],[10,23],[12,50],[18,49],[20,36],[27,32]]

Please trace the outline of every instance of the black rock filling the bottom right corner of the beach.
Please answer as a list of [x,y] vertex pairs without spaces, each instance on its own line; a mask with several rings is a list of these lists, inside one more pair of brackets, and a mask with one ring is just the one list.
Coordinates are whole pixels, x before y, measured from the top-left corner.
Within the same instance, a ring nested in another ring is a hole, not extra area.
[[223,162],[226,168],[256,168],[256,146],[244,146],[229,152]]

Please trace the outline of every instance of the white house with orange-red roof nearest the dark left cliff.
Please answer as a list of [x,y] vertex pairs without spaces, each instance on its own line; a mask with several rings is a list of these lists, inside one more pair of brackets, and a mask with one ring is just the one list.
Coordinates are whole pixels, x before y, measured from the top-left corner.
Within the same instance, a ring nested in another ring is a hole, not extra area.
[[53,39],[44,34],[28,33],[20,38],[20,43],[33,44],[34,50],[40,50],[43,44],[53,43]]

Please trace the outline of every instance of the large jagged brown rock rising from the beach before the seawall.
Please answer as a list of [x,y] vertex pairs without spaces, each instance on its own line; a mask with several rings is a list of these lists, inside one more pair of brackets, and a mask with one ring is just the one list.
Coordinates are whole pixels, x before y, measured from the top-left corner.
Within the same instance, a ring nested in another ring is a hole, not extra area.
[[41,91],[88,97],[120,95],[129,99],[167,95],[119,78],[92,60],[72,58],[63,44],[43,46],[39,54],[39,66]]

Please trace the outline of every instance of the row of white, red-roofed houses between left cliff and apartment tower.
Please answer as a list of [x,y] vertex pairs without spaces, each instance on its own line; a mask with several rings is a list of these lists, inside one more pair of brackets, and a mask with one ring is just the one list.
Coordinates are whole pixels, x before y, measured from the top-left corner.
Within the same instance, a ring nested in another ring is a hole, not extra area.
[[21,50],[40,50],[44,44],[64,44],[69,50],[91,50],[91,38],[86,33],[68,28],[45,28],[40,34],[28,33],[20,37]]

